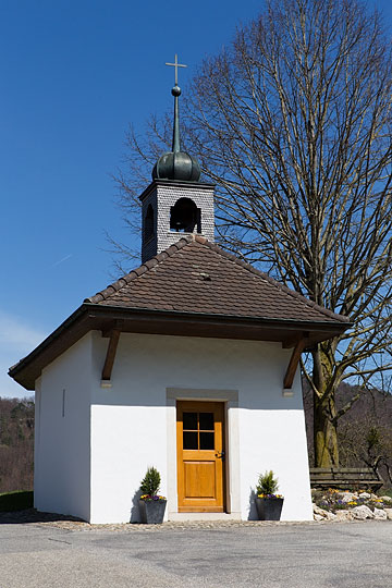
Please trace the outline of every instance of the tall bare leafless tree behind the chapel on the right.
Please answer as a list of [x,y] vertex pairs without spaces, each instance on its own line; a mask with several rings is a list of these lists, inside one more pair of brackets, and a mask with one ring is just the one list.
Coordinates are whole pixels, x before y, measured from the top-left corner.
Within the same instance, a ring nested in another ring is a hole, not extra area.
[[[365,3],[270,0],[203,63],[182,109],[187,149],[218,184],[221,244],[353,321],[303,360],[317,466],[339,464],[338,419],[356,400],[336,409],[340,382],[391,368],[391,63]],[[130,134],[125,208],[169,143],[166,121],[148,132]]]

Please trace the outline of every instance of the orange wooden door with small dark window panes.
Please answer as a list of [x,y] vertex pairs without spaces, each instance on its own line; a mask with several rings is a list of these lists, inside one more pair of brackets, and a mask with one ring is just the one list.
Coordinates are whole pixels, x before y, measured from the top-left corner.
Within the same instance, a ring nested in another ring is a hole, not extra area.
[[223,403],[177,402],[179,512],[223,512]]

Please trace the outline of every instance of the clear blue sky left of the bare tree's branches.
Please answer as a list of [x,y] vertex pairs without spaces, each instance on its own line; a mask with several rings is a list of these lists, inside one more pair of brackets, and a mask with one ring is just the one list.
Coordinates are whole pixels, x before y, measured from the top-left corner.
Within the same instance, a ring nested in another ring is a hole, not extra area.
[[[392,30],[392,5],[376,2]],[[369,2],[373,5],[373,2]],[[124,133],[171,108],[262,2],[0,0],[0,396],[8,367],[112,281],[105,231],[131,241],[110,174]]]

